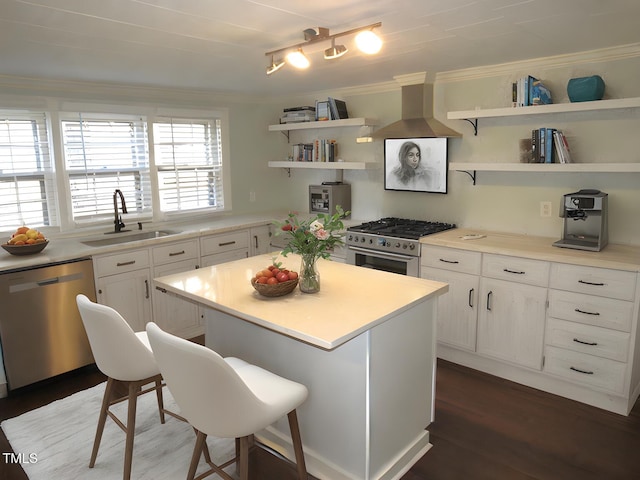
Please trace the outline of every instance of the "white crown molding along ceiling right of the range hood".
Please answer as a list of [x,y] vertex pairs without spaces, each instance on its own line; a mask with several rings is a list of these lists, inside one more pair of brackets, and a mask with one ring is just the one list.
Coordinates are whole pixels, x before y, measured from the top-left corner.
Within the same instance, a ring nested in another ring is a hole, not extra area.
[[509,75],[514,72],[535,70],[541,68],[559,68],[583,63],[608,62],[624,60],[640,56],[640,43],[620,45],[617,47],[588,50],[585,52],[555,55],[551,57],[533,58],[517,62],[500,63],[497,65],[485,65],[481,67],[451,70],[436,74],[438,82],[456,82],[473,80],[478,78]]

